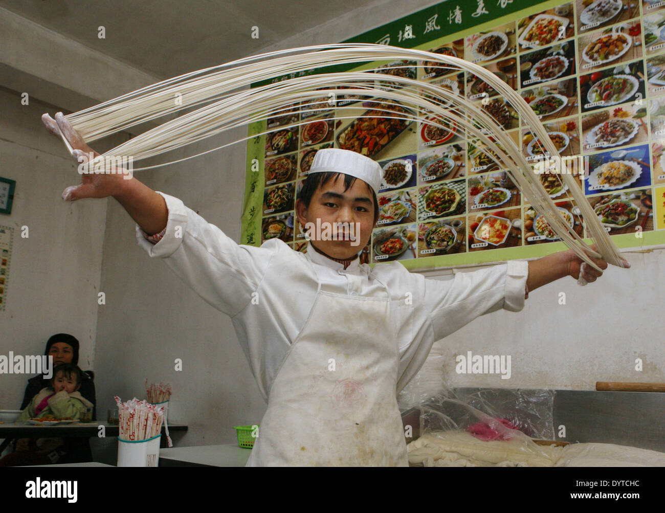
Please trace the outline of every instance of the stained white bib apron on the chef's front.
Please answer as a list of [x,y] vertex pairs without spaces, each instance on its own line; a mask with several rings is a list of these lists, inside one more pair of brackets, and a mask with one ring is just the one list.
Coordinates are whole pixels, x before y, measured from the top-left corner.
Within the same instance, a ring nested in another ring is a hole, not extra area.
[[408,466],[398,361],[390,299],[325,292],[319,280],[247,466]]

